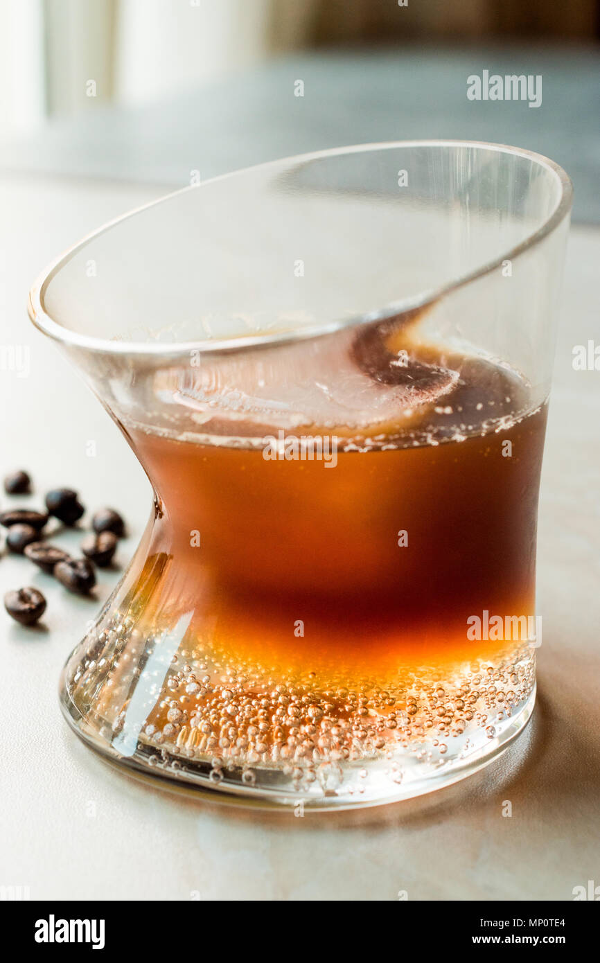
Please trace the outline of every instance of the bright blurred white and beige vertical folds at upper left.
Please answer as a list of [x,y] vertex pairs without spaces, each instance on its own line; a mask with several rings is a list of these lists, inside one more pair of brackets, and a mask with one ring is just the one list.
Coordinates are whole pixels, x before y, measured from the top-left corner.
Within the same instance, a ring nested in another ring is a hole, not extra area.
[[0,139],[259,65],[302,46],[321,2],[0,0]]

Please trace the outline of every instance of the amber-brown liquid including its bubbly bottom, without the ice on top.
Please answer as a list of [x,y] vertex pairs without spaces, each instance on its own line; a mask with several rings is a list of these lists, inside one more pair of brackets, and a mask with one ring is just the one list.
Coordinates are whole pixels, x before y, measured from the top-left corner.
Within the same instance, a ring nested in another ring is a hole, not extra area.
[[374,437],[341,429],[335,466],[127,429],[157,518],[125,621],[142,638],[184,630],[150,742],[216,756],[218,774],[222,757],[310,766],[399,740],[430,759],[524,704],[527,638],[467,627],[535,616],[546,407],[528,409],[509,370],[444,360],[460,377],[443,400]]

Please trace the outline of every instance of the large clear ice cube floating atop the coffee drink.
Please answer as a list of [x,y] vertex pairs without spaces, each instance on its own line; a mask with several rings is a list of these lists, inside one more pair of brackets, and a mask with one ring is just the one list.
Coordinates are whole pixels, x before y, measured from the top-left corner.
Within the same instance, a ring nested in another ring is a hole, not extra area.
[[456,371],[420,358],[409,340],[400,347],[404,328],[416,317],[406,312],[291,344],[207,351],[161,396],[185,406],[196,425],[216,433],[371,431],[414,417],[457,382]]

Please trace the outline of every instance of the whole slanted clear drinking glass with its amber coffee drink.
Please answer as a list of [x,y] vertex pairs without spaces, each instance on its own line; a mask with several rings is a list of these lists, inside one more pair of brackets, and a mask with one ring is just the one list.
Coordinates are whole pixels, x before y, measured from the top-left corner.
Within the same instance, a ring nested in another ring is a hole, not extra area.
[[31,319],[154,490],[65,665],[77,735],[138,773],[317,809],[507,748],[535,699],[570,204],[527,150],[359,145],[177,192],[50,266]]

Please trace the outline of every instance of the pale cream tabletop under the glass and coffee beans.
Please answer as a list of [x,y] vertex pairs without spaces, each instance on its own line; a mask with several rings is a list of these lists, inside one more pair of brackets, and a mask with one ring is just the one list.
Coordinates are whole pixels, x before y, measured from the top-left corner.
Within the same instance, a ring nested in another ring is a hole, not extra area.
[[[30,325],[30,283],[64,247],[156,196],[42,175],[0,178],[2,345],[29,346],[29,377],[0,371],[0,471],[114,505],[130,525],[150,487],[117,428],[55,347]],[[98,601],[67,596],[26,560],[0,559],[0,593],[43,586],[47,631],[0,611],[0,884],[31,898],[571,899],[600,883],[600,372],[571,349],[600,344],[600,229],[569,243],[540,501],[538,611],[544,624],[532,723],[505,756],[448,790],[363,813],[259,813],[188,799],[110,768],[66,728],[65,658]],[[3,306],[4,305],[4,306]],[[95,442],[96,455],[86,454]],[[5,506],[8,499],[2,495]],[[502,816],[510,800],[512,816]]]

